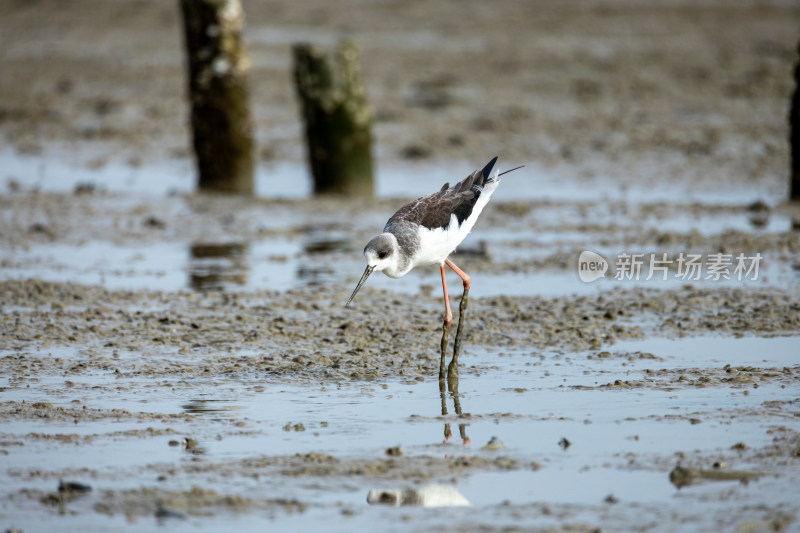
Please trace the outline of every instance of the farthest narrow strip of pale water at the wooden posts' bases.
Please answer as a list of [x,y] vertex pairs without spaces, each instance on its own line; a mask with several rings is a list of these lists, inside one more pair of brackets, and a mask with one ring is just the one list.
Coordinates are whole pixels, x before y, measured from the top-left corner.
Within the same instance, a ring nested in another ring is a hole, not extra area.
[[[12,148],[0,150],[0,183],[14,181],[26,189],[42,192],[72,192],[91,185],[111,193],[186,194],[194,192],[195,178],[190,159],[148,161],[131,166],[113,158],[102,165],[87,165],[90,151],[81,155],[67,147],[50,145],[46,154],[19,154]],[[784,191],[766,192],[760,183],[728,188],[701,187],[696,183],[669,182],[663,186],[632,182],[620,185],[618,178],[598,176],[591,180],[565,174],[563,170],[537,167],[530,162],[500,161],[501,169],[520,164],[524,168],[504,177],[494,198],[499,201],[539,200],[568,202],[627,201],[632,204],[682,204],[691,202],[747,205],[762,200],[776,205]],[[378,165],[375,192],[379,198],[417,198],[434,192],[445,182],[463,179],[474,170],[466,161],[435,160],[419,163]],[[257,167],[256,195],[263,198],[307,198],[312,180],[305,162],[281,161]]]

